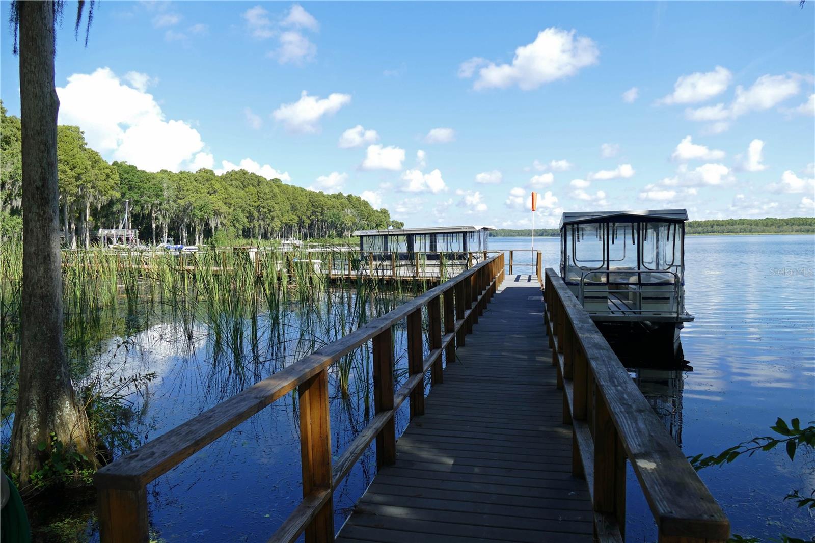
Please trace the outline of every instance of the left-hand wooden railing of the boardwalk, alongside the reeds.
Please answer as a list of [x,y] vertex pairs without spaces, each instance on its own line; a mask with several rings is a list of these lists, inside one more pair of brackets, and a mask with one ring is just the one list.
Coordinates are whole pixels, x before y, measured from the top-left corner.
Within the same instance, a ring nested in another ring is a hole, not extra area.
[[[99,534],[103,543],[149,541],[146,485],[193,453],[297,389],[300,404],[300,448],[303,500],[270,541],[333,541],[333,489],[345,479],[368,445],[377,441],[377,466],[396,461],[394,413],[410,399],[411,417],[425,409],[425,374],[443,380],[442,356],[456,359],[490,298],[504,279],[504,254],[478,263],[442,285],[404,303],[345,337],[320,348],[245,391],[176,426],[99,470]],[[422,308],[427,306],[429,353],[423,354]],[[394,324],[407,319],[410,377],[394,392]],[[328,367],[343,355],[372,341],[376,414],[368,426],[332,461],[328,417]]]

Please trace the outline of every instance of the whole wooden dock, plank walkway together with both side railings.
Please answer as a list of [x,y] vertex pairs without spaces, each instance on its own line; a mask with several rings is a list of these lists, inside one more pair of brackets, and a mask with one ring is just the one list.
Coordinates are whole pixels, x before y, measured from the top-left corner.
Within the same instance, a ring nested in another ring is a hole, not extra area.
[[[270,543],[622,543],[627,466],[659,543],[726,541],[729,520],[584,307],[540,256],[535,272],[507,276],[491,256],[108,464],[94,477],[100,540],[150,541],[147,485],[297,391],[303,499]],[[328,369],[368,342],[376,414],[335,458]],[[337,535],[333,492],[373,443],[377,476]]]

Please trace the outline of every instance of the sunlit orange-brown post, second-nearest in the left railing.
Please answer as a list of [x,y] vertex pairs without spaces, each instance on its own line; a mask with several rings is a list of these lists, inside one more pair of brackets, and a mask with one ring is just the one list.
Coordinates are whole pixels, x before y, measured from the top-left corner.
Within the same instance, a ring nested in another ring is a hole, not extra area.
[[[303,497],[320,488],[331,488],[331,436],[328,419],[328,370],[324,369],[297,387],[300,396],[300,457]],[[333,497],[306,526],[306,543],[334,541]]]

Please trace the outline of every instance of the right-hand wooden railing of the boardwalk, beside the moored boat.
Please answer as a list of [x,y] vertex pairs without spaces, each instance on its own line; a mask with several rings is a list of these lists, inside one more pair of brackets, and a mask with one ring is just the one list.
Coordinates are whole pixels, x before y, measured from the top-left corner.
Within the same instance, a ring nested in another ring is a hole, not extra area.
[[588,483],[597,538],[624,540],[628,460],[660,543],[727,540],[724,512],[552,268],[546,269],[544,299],[552,364],[563,390],[563,422],[573,428],[572,473]]

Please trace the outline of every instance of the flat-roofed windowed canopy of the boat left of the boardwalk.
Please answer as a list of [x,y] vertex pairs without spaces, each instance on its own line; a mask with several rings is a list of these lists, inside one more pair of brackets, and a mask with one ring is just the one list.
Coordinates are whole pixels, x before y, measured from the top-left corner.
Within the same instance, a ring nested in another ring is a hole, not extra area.
[[475,252],[488,249],[489,226],[357,230],[359,250],[387,252]]

